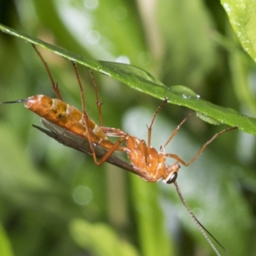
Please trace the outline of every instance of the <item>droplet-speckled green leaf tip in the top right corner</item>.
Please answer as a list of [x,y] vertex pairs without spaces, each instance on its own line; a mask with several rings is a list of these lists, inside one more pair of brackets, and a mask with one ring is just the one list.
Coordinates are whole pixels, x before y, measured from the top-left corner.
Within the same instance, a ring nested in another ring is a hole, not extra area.
[[253,0],[221,0],[244,51],[256,62],[256,4]]

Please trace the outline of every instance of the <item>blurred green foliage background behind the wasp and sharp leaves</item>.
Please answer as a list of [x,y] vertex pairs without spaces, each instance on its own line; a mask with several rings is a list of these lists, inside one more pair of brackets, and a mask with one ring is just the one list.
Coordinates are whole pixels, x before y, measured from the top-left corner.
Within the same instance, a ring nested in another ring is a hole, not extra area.
[[[2,0],[0,22],[88,58],[131,63],[167,86],[255,116],[255,64],[243,52],[218,1]],[[81,108],[70,61],[40,49],[65,102]],[[89,72],[79,67],[90,117],[98,121]],[[160,100],[95,73],[104,125],[147,139]],[[31,45],[0,33],[0,101],[55,97]],[[214,255],[174,186],[150,184],[76,152],[31,127],[20,104],[0,106],[0,254]],[[189,109],[164,107],[159,148]],[[166,152],[189,161],[226,127],[191,117]],[[198,220],[230,255],[256,253],[255,138],[233,131],[214,141],[177,182]],[[169,163],[169,162],[168,162]],[[170,161],[172,163],[172,161]],[[224,252],[223,252],[224,254]]]

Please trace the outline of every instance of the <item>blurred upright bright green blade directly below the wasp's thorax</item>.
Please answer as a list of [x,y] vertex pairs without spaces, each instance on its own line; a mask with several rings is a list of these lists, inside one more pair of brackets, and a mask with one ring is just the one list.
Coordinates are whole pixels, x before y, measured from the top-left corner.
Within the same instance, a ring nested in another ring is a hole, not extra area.
[[159,204],[159,186],[150,184],[131,175],[131,195],[134,216],[138,225],[140,247],[144,256],[172,256],[172,239],[168,236],[161,205]]

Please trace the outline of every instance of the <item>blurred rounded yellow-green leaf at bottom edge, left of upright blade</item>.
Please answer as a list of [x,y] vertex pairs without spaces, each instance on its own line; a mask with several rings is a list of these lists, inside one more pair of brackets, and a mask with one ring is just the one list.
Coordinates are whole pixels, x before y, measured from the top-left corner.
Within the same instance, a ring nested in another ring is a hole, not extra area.
[[81,247],[97,256],[138,256],[136,249],[122,241],[114,230],[104,223],[91,224],[75,219],[70,223],[70,233]]

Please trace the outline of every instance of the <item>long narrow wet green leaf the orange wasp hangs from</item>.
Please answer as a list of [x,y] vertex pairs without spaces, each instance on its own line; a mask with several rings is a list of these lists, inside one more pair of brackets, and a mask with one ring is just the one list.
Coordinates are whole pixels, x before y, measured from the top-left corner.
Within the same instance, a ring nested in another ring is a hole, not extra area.
[[[22,38],[31,44],[40,45],[49,51],[67,58],[68,60],[76,61],[81,65],[85,65],[86,67],[97,70],[102,74],[106,74],[107,76],[122,81],[123,83],[131,86],[131,88],[147,93],[161,100],[166,99],[167,97],[169,102],[172,104],[185,106],[204,114],[202,116],[209,116],[221,124],[237,126],[241,131],[256,135],[255,118],[241,115],[234,109],[223,108],[221,106],[214,105],[211,102],[207,102],[206,100],[202,100],[195,92],[186,86],[177,85],[167,87],[141,68],[122,63],[88,59],[56,45],[47,44],[42,40],[15,31],[14,29],[10,29],[1,24],[0,29],[4,33]],[[207,120],[207,118],[205,118],[205,120]]]

